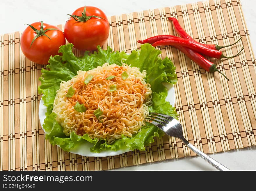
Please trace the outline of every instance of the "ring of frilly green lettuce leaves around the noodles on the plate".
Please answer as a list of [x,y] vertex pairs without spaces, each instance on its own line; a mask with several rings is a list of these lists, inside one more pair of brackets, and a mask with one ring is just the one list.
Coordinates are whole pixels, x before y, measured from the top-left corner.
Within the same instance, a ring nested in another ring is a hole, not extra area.
[[[63,127],[56,122],[56,114],[52,113],[53,103],[56,91],[60,88],[61,81],[68,81],[77,75],[78,70],[88,71],[104,63],[122,65],[127,63],[132,67],[139,67],[140,71],[146,70],[147,75],[145,81],[150,83],[152,93],[152,106],[149,107],[150,112],[158,112],[178,117],[176,109],[166,101],[167,89],[163,82],[175,84],[177,75],[175,66],[169,58],[161,59],[159,54],[161,51],[155,49],[150,44],[141,45],[140,50],[134,50],[131,54],[122,52],[113,52],[110,47],[102,50],[99,46],[97,52],[89,53],[86,51],[83,56],[76,57],[72,52],[73,44],[67,44],[60,47],[59,52],[62,56],[56,55],[50,57],[47,69],[42,69],[42,75],[39,80],[41,85],[38,92],[43,94],[43,101],[47,107],[46,119],[43,124],[45,130],[45,138],[50,143],[59,145],[63,150],[70,151],[72,148],[88,141],[93,143],[90,148],[91,152],[100,152],[106,149],[117,151],[119,149],[129,148],[131,150],[145,150],[145,146],[154,142],[154,137],[161,137],[163,132],[156,126],[147,123],[141,128],[141,132],[134,134],[131,138],[122,135],[122,138],[115,140],[112,144],[107,144],[106,140],[92,140],[89,136],[76,135],[74,131],[70,136],[63,133]],[[122,76],[127,78],[125,74]]]

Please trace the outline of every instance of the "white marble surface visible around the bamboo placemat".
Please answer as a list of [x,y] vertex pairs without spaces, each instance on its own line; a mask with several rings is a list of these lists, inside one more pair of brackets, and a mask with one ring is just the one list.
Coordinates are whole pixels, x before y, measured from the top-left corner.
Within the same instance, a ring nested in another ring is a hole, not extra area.
[[[64,24],[76,8],[87,5],[101,8],[107,16],[167,6],[193,3],[197,0],[0,0],[0,34],[23,31],[24,23],[43,20],[48,24]],[[256,2],[241,0],[252,46],[256,49]],[[232,170],[256,170],[256,146],[211,154],[211,157]],[[170,159],[115,170],[215,170],[200,157]]]

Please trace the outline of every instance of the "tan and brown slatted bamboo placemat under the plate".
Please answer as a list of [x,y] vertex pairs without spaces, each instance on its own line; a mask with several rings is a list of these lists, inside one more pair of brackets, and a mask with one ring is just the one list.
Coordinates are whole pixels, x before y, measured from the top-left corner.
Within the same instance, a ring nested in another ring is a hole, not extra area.
[[[185,138],[205,153],[255,145],[256,66],[241,1],[198,2],[109,17],[110,35],[103,48],[111,46],[130,53],[140,47],[137,40],[177,35],[166,19],[170,16],[199,42],[227,45],[243,37],[224,52],[232,56],[244,47],[238,57],[211,59],[229,82],[218,73],[200,69],[177,49],[161,47],[161,56],[168,56],[177,67],[175,107]],[[15,32],[0,37],[0,170],[106,170],[195,155],[180,140],[168,136],[155,139],[146,151],[102,158],[83,157],[51,146],[38,119],[42,97],[37,91],[38,77],[45,66],[24,57],[20,36]]]

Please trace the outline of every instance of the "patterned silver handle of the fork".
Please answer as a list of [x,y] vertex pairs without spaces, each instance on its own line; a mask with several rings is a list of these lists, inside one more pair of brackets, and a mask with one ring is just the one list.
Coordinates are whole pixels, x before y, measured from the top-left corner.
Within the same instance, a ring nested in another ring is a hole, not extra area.
[[194,147],[192,144],[187,144],[187,146],[194,151],[198,156],[202,157],[203,159],[205,159],[208,163],[210,163],[212,166],[214,166],[216,169],[218,170],[230,170],[227,167],[225,167],[224,165],[222,165],[221,163],[219,163],[217,160],[214,160],[213,158],[211,158],[210,156],[208,156],[207,154],[203,153],[202,151],[200,151],[199,149],[197,149],[196,147]]

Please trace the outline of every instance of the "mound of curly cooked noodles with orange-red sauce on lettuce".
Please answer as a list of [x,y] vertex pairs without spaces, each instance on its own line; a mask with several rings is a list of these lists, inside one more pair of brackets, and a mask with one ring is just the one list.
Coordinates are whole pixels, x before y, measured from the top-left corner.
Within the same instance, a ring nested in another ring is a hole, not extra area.
[[131,137],[145,125],[143,120],[152,104],[152,90],[145,76],[145,70],[141,73],[138,67],[126,64],[105,63],[78,71],[71,80],[62,81],[57,90],[52,111],[56,121],[67,136],[75,131],[91,139],[106,139],[109,144],[122,135]]

